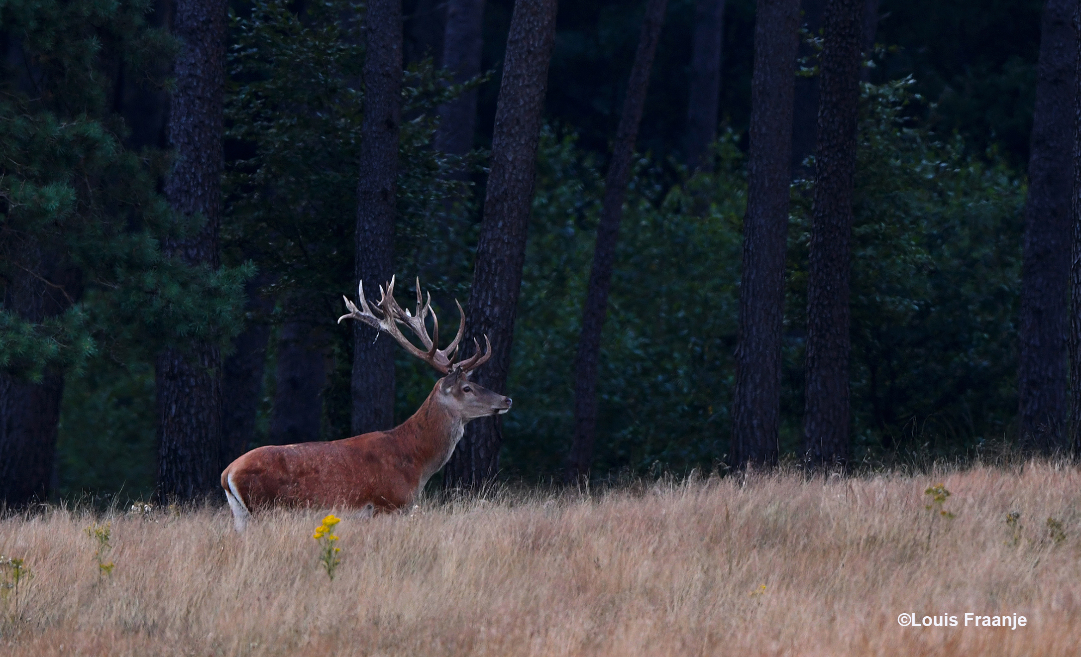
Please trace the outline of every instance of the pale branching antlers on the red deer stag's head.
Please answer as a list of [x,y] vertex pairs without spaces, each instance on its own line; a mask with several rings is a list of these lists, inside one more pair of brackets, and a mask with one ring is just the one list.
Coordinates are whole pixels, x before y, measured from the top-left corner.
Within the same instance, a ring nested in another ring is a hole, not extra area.
[[[488,336],[484,336],[484,341],[488,345],[488,352],[480,356],[480,349],[478,346],[477,352],[466,360],[465,362],[454,363],[454,358],[458,351],[458,344],[462,341],[462,336],[465,334],[466,330],[466,313],[462,310],[462,304],[456,299],[454,304],[458,307],[458,333],[451,340],[451,344],[446,346],[445,349],[439,349],[439,318],[436,317],[436,311],[431,308],[431,293],[428,293],[427,299],[421,294],[421,279],[416,279],[416,310],[410,312],[409,310],[402,309],[395,300],[395,277],[390,278],[390,282],[384,289],[379,285],[379,301],[374,308],[368,305],[368,300],[364,298],[364,282],[360,281],[357,284],[357,296],[360,300],[360,308],[358,309],[349,297],[343,296],[345,299],[345,306],[349,310],[348,314],[343,314],[338,318],[338,323],[342,320],[350,319],[364,322],[369,326],[389,334],[392,338],[398,340],[398,344],[405,348],[406,351],[415,356],[416,358],[428,363],[439,372],[443,374],[449,374],[452,368],[458,368],[463,371],[475,370],[481,364],[483,364],[489,358],[491,358],[491,343],[488,341]],[[376,314],[376,312],[378,314]],[[432,333],[435,337],[428,335],[428,328],[425,324],[428,319],[428,314],[431,314]],[[421,343],[425,346],[427,351],[419,349],[413,343],[409,340],[401,331],[398,330],[398,324],[405,324],[411,331],[421,339]],[[473,340],[477,345],[477,340]]]

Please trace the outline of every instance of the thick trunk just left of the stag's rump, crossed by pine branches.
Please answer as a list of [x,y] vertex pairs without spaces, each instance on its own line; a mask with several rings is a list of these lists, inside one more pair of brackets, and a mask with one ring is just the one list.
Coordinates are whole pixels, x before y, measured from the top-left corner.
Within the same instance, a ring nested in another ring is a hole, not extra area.
[[[165,243],[190,264],[219,266],[222,131],[225,95],[224,0],[177,0],[173,33],[181,41],[169,112],[175,164],[165,197],[184,213],[205,217],[200,232]],[[158,356],[158,495],[192,499],[218,487],[222,448],[222,357],[217,346],[195,340]]]

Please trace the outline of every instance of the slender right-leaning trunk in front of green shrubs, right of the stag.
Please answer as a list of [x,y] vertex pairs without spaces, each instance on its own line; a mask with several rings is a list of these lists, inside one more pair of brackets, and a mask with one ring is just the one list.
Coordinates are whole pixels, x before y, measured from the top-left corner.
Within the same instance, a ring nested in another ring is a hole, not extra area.
[[[612,284],[615,244],[623,220],[623,202],[627,197],[635,157],[635,142],[642,122],[642,107],[650,83],[653,56],[657,51],[660,28],[665,22],[668,0],[650,0],[638,39],[638,52],[627,82],[627,96],[616,131],[612,162],[604,179],[604,201],[601,220],[597,226],[597,245],[593,265],[589,272],[586,305],[582,312],[582,333],[574,361],[574,441],[566,465],[566,480],[589,477],[593,461],[593,443],[597,434],[597,366],[600,362],[601,328],[608,312],[608,295]],[[716,112],[716,103],[715,103]],[[715,113],[716,117],[716,113]]]

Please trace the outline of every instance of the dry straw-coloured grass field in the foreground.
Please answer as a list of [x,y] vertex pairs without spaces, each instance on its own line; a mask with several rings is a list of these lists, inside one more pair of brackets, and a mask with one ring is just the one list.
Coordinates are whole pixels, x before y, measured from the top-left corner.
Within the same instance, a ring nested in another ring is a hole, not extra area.
[[[939,482],[952,518],[925,508]],[[333,581],[321,512],[237,535],[224,509],[52,509],[0,521],[0,552],[34,575],[0,602],[0,654],[1077,655],[1079,502],[1081,471],[1041,462],[503,493],[339,513]],[[94,522],[110,523],[111,575]],[[906,612],[959,625],[899,627]]]

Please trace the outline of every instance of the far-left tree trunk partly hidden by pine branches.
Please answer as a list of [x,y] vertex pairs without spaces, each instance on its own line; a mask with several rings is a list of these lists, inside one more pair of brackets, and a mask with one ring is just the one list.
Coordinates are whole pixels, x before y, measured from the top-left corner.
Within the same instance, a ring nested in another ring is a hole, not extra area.
[[[40,244],[21,251],[16,274],[3,281],[3,308],[34,323],[62,314],[81,293],[78,272],[58,267],[59,256]],[[63,394],[56,368],[37,384],[0,372],[0,500],[8,506],[49,496]]]

